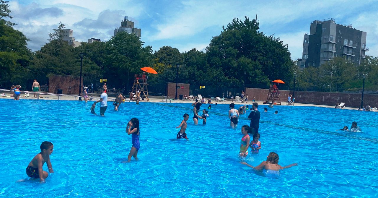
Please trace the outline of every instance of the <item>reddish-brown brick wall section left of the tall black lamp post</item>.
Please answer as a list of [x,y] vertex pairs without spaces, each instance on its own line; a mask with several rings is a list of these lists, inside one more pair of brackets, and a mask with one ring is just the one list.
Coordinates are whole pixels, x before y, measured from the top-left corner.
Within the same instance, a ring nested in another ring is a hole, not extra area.
[[[83,85],[83,78],[81,78]],[[53,75],[48,78],[48,92],[56,94],[58,89],[62,89],[62,94],[79,94],[80,76]]]

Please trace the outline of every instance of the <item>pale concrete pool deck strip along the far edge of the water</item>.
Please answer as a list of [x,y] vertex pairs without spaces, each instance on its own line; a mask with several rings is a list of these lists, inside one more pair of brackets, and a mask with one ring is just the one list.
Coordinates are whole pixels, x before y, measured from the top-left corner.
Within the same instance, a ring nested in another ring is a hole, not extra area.
[[[6,97],[0,97],[0,98],[8,98],[8,99],[14,99],[13,97],[9,97],[9,93],[6,93],[7,96]],[[41,94],[40,94],[41,95]],[[33,96],[32,94],[30,94],[30,96]],[[58,97],[56,95],[42,95],[43,98],[39,98],[39,100],[57,100]],[[48,97],[48,98],[46,98]],[[21,94],[20,96],[20,100],[37,100],[37,98],[33,98],[33,97],[23,97],[23,94]],[[108,97],[108,101],[112,101],[114,99],[114,97]],[[74,101],[74,97],[70,97],[70,96],[61,96],[60,100],[72,100]],[[77,101],[77,100],[76,100]],[[84,101],[84,99],[83,99]],[[88,102],[92,102],[92,101],[88,101]],[[131,101],[131,102],[135,102],[135,101]],[[144,103],[146,101],[140,101],[141,103]],[[150,98],[150,102],[153,102],[153,103],[161,103],[162,100],[161,100],[161,97],[160,98]],[[194,101],[184,101],[184,100],[172,100],[171,103],[193,103]],[[211,105],[215,105],[215,102],[218,103],[218,104],[230,104],[232,103],[231,102],[231,99],[227,99],[226,102],[218,102],[218,101],[215,101],[213,100],[212,101],[214,104],[211,104]],[[256,101],[259,105],[266,105],[266,104],[263,104],[264,101]],[[168,102],[169,103],[169,102]],[[239,103],[239,102],[234,102],[235,103],[235,106],[237,106],[237,108],[239,108],[238,106],[242,106],[246,103]],[[204,104],[204,105],[208,105],[208,104]],[[248,105],[252,105],[252,101],[249,101],[248,102]],[[285,103],[281,103],[281,105],[279,104],[275,104],[273,106],[288,106],[288,105],[285,105]],[[294,106],[315,106],[315,107],[326,107],[326,108],[335,108],[335,106],[328,106],[328,105],[319,105],[319,104],[303,104],[303,103],[295,103]],[[357,108],[349,108],[349,107],[345,107],[344,109],[352,109],[352,110],[357,110]],[[378,111],[375,111],[375,112],[378,112]]]

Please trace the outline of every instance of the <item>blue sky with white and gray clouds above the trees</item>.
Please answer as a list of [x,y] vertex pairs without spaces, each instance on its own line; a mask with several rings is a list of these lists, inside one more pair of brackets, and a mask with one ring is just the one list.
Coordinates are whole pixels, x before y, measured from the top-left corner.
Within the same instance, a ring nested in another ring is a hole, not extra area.
[[166,45],[181,52],[205,51],[234,17],[252,19],[257,14],[260,31],[287,44],[293,60],[302,57],[303,36],[310,32],[310,23],[328,18],[367,32],[370,51],[366,55],[378,56],[378,0],[9,0],[9,8],[11,21],[17,23],[14,28],[30,39],[32,51],[48,42],[48,34],[59,22],[73,30],[76,41],[92,37],[107,41],[124,16],[141,29],[141,40],[154,51]]

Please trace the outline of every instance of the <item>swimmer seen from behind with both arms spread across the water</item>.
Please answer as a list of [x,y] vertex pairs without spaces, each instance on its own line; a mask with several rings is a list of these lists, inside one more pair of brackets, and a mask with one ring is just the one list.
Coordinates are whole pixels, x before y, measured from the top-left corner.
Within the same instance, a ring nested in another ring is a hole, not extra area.
[[245,164],[256,170],[263,170],[265,176],[279,176],[281,169],[290,168],[290,167],[298,165],[297,163],[294,163],[294,164],[290,164],[290,165],[282,167],[281,165],[278,164],[278,161],[279,161],[278,154],[274,152],[270,152],[269,155],[266,156],[266,161],[261,162],[261,164],[258,165],[257,167],[253,167],[247,164],[246,162],[240,162],[240,163]]

